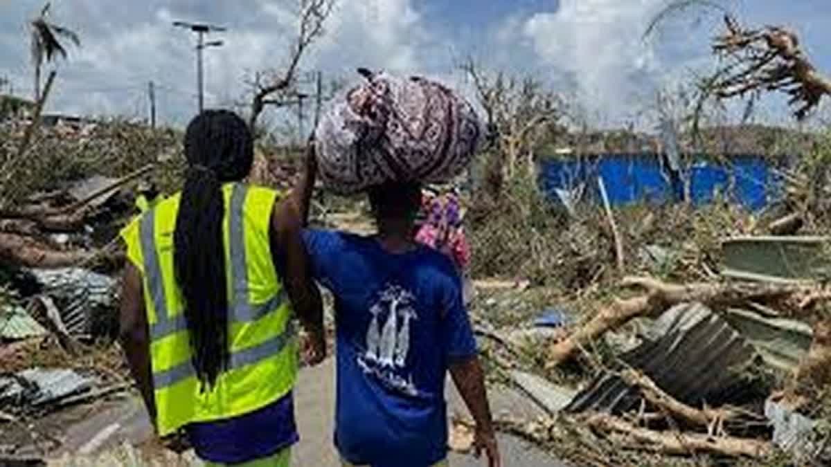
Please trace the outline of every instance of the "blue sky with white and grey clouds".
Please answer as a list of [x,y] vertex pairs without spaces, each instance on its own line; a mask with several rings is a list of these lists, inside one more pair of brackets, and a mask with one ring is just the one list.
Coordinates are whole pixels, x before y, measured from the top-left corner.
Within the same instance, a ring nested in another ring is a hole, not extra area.
[[[472,56],[492,70],[534,74],[606,125],[635,118],[657,88],[712,66],[707,39],[720,27],[713,14],[691,12],[644,40],[667,0],[337,1],[304,70],[352,79],[356,66],[366,66],[435,76],[464,90],[457,65]],[[194,37],[171,26],[177,19],[229,28],[216,37],[224,47],[206,52],[205,72],[206,105],[230,106],[252,71],[285,63],[297,2],[54,0],[53,21],[79,32],[82,47],[57,65],[49,109],[145,116],[147,83],[155,81],[160,120],[187,121],[196,108]],[[725,3],[743,22],[794,27],[817,65],[831,70],[829,0]],[[26,22],[41,6],[0,0],[0,76],[18,94],[32,93]]]

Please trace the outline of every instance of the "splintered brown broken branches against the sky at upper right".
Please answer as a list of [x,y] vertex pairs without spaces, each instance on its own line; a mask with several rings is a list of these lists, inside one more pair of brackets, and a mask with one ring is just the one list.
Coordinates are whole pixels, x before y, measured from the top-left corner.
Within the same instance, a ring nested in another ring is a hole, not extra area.
[[765,91],[784,92],[790,96],[789,105],[797,107],[794,115],[802,120],[823,96],[831,94],[831,81],[811,63],[795,32],[778,26],[741,27],[729,15],[725,27],[712,46],[725,61],[708,82],[715,96],[754,100]]

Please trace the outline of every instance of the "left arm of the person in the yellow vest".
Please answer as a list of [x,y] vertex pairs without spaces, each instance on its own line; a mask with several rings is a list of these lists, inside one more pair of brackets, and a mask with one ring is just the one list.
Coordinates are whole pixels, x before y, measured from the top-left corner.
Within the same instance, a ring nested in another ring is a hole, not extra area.
[[155,426],[156,411],[153,396],[153,376],[150,366],[150,331],[145,314],[139,270],[127,262],[121,279],[120,343]]

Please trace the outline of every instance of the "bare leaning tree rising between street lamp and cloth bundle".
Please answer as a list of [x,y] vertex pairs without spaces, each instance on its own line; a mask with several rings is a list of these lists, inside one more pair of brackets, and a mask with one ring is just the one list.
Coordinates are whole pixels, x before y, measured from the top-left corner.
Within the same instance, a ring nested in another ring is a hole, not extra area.
[[248,126],[255,130],[259,116],[265,106],[287,106],[294,97],[292,91],[297,80],[300,60],[308,48],[322,37],[324,23],[332,14],[335,0],[300,0],[297,17],[297,38],[291,48],[288,66],[283,70],[257,71],[254,73],[254,94],[251,101],[251,113]]

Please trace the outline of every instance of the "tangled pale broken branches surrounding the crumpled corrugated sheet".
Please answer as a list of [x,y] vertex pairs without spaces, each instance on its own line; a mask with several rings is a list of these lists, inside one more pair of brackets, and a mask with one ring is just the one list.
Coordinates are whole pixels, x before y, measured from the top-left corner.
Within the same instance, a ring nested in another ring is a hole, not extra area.
[[[666,283],[656,278],[624,278],[623,289],[640,290],[626,298],[613,299],[570,332],[549,340],[541,359],[546,370],[561,369],[577,357],[588,359],[607,374],[637,388],[642,398],[639,410],[612,415],[607,412],[549,413],[539,420],[502,418],[501,430],[519,435],[579,465],[653,465],[632,453],[682,456],[701,465],[701,457],[731,459],[747,465],[783,460],[785,454],[766,437],[768,421],[758,407],[719,404],[691,406],[661,389],[650,376],[624,366],[609,370],[587,349],[595,347],[607,332],[616,332],[637,318],[657,318],[681,303],[701,303],[713,310],[730,307],[765,306],[783,317],[808,322],[814,341],[799,367],[775,390],[769,400],[789,410],[827,417],[831,407],[817,410],[823,388],[831,385],[831,290],[822,285],[779,286],[760,283]],[[502,345],[510,344],[503,342]],[[829,401],[826,396],[825,403]],[[714,402],[714,401],[709,401]],[[823,411],[825,410],[825,411]],[[465,420],[460,423],[464,424]],[[756,427],[756,429],[754,429]],[[831,441],[831,436],[829,440]],[[831,453],[822,442],[814,455]],[[659,456],[660,457],[660,456]],[[824,465],[821,460],[804,465]],[[666,465],[656,460],[654,465]],[[765,464],[767,465],[767,464]],[[772,465],[772,464],[771,464]]]

